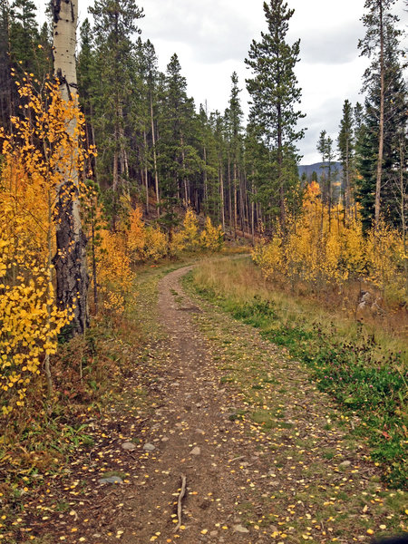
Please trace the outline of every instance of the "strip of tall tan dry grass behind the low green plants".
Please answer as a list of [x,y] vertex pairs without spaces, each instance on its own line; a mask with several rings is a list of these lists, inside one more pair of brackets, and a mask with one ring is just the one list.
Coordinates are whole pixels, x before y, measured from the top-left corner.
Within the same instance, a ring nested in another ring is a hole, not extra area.
[[[390,308],[381,316],[356,316],[356,306],[364,284],[350,283],[343,293],[332,290],[324,293],[306,292],[304,286],[296,290],[276,285],[263,277],[250,257],[234,260],[203,261],[194,270],[194,283],[211,289],[216,296],[236,302],[253,302],[257,297],[277,308],[281,323],[301,322],[310,328],[316,322],[327,332],[335,325],[336,334],[355,341],[363,333],[374,335],[377,343],[387,351],[407,352],[406,331],[408,313],[403,308]],[[374,294],[375,296],[375,294]]]

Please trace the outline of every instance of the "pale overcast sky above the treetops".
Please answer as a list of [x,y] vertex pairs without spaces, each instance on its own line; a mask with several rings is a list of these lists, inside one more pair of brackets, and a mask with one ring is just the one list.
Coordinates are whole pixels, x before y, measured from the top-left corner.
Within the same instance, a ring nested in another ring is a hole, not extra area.
[[[80,19],[92,0],[79,0]],[[44,5],[37,0],[37,5]],[[230,75],[238,73],[244,111],[248,94],[245,79],[249,71],[244,59],[253,39],[265,31],[263,0],[140,0],[145,17],[140,21],[141,37],[150,39],[164,71],[173,53],[179,55],[188,92],[199,106],[207,101],[209,111],[223,112],[228,104]],[[358,39],[364,36],[360,22],[364,0],[288,0],[295,9],[288,41],[300,38],[296,74],[302,88],[301,110],[306,113],[306,137],[298,147],[302,163],[320,160],[316,141],[326,130],[337,136],[345,99],[362,102],[359,94],[366,59],[359,57]],[[397,13],[406,29],[403,0]]]

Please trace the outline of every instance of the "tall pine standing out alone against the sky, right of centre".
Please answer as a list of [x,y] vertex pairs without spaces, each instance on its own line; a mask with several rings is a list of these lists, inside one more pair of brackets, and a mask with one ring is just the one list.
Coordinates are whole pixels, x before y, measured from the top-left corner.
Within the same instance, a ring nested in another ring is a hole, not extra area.
[[[295,66],[299,60],[299,44],[286,42],[289,20],[294,10],[288,9],[283,0],[264,3],[267,33],[261,33],[261,41],[252,42],[246,63],[253,77],[247,80],[251,95],[251,120],[259,124],[262,137],[277,163],[276,181],[279,192],[280,222],[285,225],[285,199],[289,187],[284,169],[285,153],[304,131],[296,129],[296,123],[304,115],[295,110],[300,102],[301,90],[297,86]],[[272,181],[272,180],[271,180]]]

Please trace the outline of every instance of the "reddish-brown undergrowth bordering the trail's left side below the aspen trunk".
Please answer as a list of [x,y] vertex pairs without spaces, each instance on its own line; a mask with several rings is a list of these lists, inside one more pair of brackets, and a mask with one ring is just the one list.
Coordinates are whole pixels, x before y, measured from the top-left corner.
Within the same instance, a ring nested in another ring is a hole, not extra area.
[[[123,314],[103,311],[83,336],[61,336],[52,361],[53,395],[47,397],[40,380],[24,409],[2,419],[0,510],[19,503],[22,493],[41,489],[47,478],[63,476],[78,449],[92,448],[89,422],[99,421],[120,397],[123,378],[142,360],[143,346],[155,334],[155,286],[169,269],[169,263],[140,269],[138,286],[132,287],[136,305]],[[0,535],[1,530],[0,521]]]

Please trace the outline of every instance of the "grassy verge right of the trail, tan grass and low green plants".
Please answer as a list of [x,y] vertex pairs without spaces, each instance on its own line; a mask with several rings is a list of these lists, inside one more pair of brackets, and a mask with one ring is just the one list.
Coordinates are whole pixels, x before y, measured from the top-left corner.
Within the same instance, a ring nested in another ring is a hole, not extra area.
[[355,433],[395,488],[408,480],[406,346],[335,311],[273,291],[248,258],[206,263],[188,278],[199,295],[302,361],[319,389],[355,417]]

